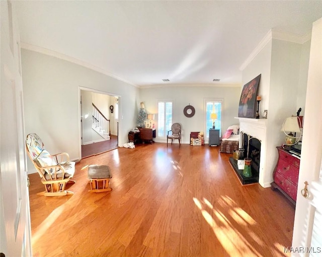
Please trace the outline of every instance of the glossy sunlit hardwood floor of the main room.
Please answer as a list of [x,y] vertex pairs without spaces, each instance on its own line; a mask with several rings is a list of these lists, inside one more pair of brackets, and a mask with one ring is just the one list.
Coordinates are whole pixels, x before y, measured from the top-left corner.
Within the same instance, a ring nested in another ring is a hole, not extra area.
[[[76,164],[72,196],[44,197],[30,177],[34,256],[289,256],[294,207],[241,186],[218,147],[142,144]],[[109,165],[111,192],[90,193],[87,166]]]

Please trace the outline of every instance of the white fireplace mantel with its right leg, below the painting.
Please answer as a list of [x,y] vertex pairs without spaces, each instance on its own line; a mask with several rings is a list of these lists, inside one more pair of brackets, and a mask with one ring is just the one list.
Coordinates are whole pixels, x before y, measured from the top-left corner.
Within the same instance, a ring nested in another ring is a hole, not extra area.
[[[261,161],[259,168],[259,183],[263,187],[269,187],[270,181],[266,181],[269,177],[266,172],[269,172],[266,167],[266,147],[267,147],[267,119],[255,119],[255,118],[241,118],[239,119],[239,132],[248,134],[254,138],[257,138],[261,141]],[[240,142],[239,142],[240,146]]]

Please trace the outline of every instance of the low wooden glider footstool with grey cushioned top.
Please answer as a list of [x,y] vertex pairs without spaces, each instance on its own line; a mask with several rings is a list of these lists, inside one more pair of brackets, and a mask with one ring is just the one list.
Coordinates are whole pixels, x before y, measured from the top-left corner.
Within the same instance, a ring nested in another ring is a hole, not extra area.
[[88,170],[88,178],[90,179],[90,192],[106,192],[111,191],[110,187],[112,173],[107,165],[90,165]]

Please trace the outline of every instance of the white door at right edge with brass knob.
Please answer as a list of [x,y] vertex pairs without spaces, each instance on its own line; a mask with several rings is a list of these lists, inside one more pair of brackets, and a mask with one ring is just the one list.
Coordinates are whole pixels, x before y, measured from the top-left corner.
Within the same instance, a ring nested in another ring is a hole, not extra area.
[[[313,23],[292,256],[322,255],[322,19]],[[304,198],[307,181],[308,197]]]

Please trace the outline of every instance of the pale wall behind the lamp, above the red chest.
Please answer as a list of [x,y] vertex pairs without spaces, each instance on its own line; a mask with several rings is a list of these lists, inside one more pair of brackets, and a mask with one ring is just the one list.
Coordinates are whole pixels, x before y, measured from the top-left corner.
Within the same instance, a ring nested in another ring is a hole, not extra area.
[[[301,44],[273,39],[268,137],[274,139],[276,146],[285,141],[281,132],[284,119],[296,115],[301,51]],[[302,71],[302,77],[307,79],[307,69],[306,73]],[[275,156],[277,158],[277,151]]]

